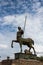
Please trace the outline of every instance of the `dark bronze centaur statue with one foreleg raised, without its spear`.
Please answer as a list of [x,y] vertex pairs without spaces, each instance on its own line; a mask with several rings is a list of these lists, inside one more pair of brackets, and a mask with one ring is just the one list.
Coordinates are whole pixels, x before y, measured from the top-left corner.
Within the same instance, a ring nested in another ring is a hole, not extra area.
[[34,41],[31,38],[22,38],[23,34],[24,34],[24,31],[21,29],[21,27],[18,27],[17,40],[12,40],[11,47],[13,48],[13,42],[19,43],[20,49],[22,52],[22,45],[27,45],[29,47],[29,52],[32,48],[34,50],[34,54],[36,54],[35,49],[33,47]]

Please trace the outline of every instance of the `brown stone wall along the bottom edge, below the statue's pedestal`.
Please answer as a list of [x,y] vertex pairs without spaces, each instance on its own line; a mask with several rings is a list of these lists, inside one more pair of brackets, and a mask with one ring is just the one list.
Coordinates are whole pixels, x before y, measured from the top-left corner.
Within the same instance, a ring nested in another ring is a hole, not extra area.
[[12,65],[43,65],[43,62],[40,62],[38,60],[19,59],[13,60]]

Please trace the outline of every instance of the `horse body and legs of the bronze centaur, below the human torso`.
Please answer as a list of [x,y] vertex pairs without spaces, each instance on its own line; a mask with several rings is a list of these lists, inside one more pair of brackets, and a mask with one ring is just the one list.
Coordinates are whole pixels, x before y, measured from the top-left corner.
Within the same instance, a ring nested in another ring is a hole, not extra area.
[[22,52],[22,45],[27,45],[29,47],[29,52],[32,48],[34,50],[34,54],[36,54],[35,49],[33,47],[34,41],[31,38],[19,38],[18,40],[12,40],[12,44],[11,44],[12,48],[13,48],[13,42],[20,44],[21,52]]

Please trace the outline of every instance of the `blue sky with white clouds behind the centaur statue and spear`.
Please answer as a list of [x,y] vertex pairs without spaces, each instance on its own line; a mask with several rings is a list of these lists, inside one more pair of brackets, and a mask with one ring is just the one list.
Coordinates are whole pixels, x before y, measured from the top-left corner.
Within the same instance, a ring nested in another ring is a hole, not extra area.
[[[13,53],[20,52],[19,44],[14,44],[14,48],[11,48],[11,41],[16,39],[17,27],[24,28],[25,16],[24,37],[34,40],[36,52],[43,52],[43,0],[0,0],[1,59],[7,56],[13,58]],[[24,49],[28,47],[23,46]]]

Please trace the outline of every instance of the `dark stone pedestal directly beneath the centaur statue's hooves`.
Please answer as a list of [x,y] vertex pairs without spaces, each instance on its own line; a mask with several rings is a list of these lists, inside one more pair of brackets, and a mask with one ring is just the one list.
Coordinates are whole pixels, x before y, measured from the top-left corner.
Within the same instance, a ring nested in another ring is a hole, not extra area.
[[36,59],[36,55],[25,54],[25,53],[15,53],[15,59]]

